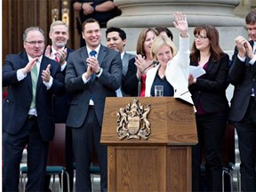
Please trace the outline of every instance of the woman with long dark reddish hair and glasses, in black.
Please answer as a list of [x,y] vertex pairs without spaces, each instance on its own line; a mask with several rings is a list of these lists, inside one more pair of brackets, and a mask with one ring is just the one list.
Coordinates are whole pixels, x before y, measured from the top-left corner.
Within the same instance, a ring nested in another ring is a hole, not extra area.
[[193,147],[192,189],[200,191],[200,165],[205,154],[207,190],[221,191],[221,142],[228,122],[228,54],[219,45],[219,32],[210,25],[194,30],[195,41],[190,53],[190,65],[204,68],[197,79],[188,78],[189,91],[196,107],[198,144]]

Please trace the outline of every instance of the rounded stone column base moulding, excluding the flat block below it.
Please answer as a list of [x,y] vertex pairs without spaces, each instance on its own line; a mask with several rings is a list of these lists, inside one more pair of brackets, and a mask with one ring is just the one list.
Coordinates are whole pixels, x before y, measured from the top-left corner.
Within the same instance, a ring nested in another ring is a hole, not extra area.
[[203,23],[241,27],[244,20],[233,14],[240,0],[114,0],[122,14],[108,21],[119,28],[172,27],[173,13],[188,15],[190,27]]

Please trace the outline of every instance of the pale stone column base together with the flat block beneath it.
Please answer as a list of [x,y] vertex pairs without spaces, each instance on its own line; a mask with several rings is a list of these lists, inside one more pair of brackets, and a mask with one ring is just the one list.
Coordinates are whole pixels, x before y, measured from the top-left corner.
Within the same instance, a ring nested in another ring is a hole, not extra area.
[[[191,43],[193,30],[197,25],[211,24],[219,30],[221,48],[232,55],[236,36],[248,36],[244,17],[234,15],[236,6],[251,0],[114,0],[122,14],[108,21],[108,27],[123,28],[127,35],[125,50],[136,50],[137,39],[143,28],[167,27],[179,45],[179,36],[173,27],[173,13],[182,12],[188,16]],[[105,31],[103,31],[105,34]],[[103,44],[105,43],[103,37]]]

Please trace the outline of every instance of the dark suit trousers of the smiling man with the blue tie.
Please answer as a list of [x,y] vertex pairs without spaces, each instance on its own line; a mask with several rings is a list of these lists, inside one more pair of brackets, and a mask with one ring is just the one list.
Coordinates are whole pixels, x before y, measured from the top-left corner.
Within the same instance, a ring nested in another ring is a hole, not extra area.
[[101,126],[94,108],[89,108],[84,124],[72,129],[73,150],[76,162],[76,191],[92,191],[90,164],[92,148],[95,146],[100,161],[100,188],[108,190],[107,146],[100,144]]

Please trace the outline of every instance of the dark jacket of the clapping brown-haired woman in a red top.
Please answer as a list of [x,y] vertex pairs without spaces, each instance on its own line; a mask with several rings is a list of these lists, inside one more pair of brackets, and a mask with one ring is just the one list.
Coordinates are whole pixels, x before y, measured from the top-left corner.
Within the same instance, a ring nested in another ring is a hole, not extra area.
[[128,70],[126,75],[124,76],[122,82],[122,88],[124,93],[129,94],[131,96],[138,96],[138,78],[136,76],[137,67],[134,64],[135,58],[129,60]]

